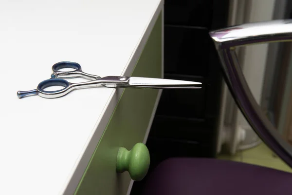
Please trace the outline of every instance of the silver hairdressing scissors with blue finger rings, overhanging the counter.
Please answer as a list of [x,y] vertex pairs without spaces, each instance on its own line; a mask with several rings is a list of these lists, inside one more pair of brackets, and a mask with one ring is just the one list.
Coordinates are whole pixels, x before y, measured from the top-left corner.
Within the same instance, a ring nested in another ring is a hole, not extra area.
[[[73,68],[73,71],[60,71],[63,68]],[[61,61],[53,65],[53,74],[50,79],[40,82],[37,89],[31,91],[18,91],[18,98],[29,95],[38,95],[42,98],[59,98],[65,96],[74,89],[90,88],[103,85],[105,87],[121,88],[141,88],[141,89],[200,89],[201,82],[173,80],[164,78],[144,78],[144,77],[124,77],[108,76],[99,77],[83,72],[78,63]],[[91,81],[71,83],[63,78],[86,78]],[[45,88],[51,86],[63,86],[61,90],[46,91]]]

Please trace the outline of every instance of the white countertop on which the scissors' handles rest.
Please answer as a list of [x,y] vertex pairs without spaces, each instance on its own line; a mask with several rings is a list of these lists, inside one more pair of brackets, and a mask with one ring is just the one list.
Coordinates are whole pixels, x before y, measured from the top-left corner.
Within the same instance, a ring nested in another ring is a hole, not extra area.
[[81,89],[55,99],[18,99],[17,91],[35,89],[59,61],[77,62],[84,72],[101,77],[129,74],[161,0],[0,4],[0,192],[57,195],[67,189],[70,194],[120,89]]

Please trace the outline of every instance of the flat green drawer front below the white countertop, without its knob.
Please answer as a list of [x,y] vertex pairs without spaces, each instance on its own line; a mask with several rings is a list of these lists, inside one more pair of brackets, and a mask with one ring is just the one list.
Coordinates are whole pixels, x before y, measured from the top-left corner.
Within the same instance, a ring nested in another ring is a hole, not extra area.
[[[162,76],[162,15],[160,13],[133,77]],[[130,176],[116,173],[119,147],[142,142],[158,95],[155,89],[125,89],[99,141],[75,195],[126,195]],[[151,160],[151,159],[150,159]]]

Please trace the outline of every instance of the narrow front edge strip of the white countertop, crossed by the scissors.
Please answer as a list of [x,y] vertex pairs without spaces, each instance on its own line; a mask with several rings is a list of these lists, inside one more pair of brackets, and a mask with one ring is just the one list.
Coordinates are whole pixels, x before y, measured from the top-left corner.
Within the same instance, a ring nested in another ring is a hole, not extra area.
[[[156,10],[152,13],[152,16],[150,17],[148,21],[148,25],[146,26],[143,34],[141,35],[140,40],[137,42],[136,48],[133,50],[131,57],[128,60],[128,64],[125,66],[125,69],[122,76],[127,76],[131,74],[133,71],[138,59],[140,58],[142,51],[144,49],[144,46],[146,45],[146,41],[153,29],[153,26],[160,14],[160,12],[163,10],[164,6],[164,0],[160,1],[157,4]],[[87,144],[83,148],[83,155],[80,155],[79,159],[76,160],[75,166],[72,170],[72,175],[70,175],[67,179],[67,183],[64,184],[63,189],[61,189],[60,194],[61,195],[73,195],[80,179],[82,178],[87,165],[91,159],[91,156],[102,137],[104,130],[110,120],[110,116],[114,111],[115,106],[118,103],[119,98],[121,97],[123,92],[122,88],[119,89],[113,89],[110,98],[104,107],[100,117],[95,123],[95,126],[93,128],[94,131],[92,131],[92,134],[90,138],[88,139]],[[161,93],[161,92],[160,92]],[[152,123],[152,121],[151,121]],[[149,131],[149,130],[148,130]],[[148,134],[148,133],[147,133]]]

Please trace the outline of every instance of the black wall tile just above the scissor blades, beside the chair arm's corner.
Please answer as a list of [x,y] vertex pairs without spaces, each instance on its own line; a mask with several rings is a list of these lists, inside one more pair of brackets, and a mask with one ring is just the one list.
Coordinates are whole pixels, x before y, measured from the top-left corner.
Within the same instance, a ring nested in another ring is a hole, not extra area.
[[207,76],[210,41],[207,29],[165,25],[165,73]]

